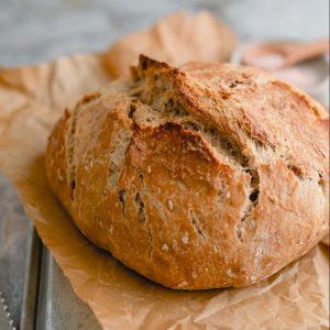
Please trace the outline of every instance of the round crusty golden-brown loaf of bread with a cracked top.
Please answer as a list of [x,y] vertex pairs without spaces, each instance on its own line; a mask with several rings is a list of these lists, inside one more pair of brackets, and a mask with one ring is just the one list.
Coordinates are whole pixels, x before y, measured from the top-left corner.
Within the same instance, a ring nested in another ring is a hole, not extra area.
[[141,56],[130,79],[65,111],[46,174],[79,230],[128,267],[176,289],[239,287],[328,232],[328,123],[256,68]]

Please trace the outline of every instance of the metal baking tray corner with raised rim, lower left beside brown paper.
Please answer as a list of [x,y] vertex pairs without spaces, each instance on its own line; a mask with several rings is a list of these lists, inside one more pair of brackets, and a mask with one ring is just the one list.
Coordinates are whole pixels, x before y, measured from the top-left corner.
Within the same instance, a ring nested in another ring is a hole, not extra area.
[[34,229],[30,234],[23,301],[21,330],[101,329]]

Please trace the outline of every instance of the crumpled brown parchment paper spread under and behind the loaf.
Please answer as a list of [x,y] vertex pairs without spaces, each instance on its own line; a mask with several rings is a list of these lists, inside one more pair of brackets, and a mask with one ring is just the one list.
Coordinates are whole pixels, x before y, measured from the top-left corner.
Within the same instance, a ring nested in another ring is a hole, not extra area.
[[[187,28],[174,37],[178,22]],[[160,46],[155,31],[161,31],[167,41],[161,43],[162,52],[154,50]],[[205,46],[204,36],[208,35],[207,42],[216,45],[209,46],[209,53],[196,55],[195,50]],[[103,329],[328,329],[329,251],[324,245],[319,244],[282,272],[246,288],[170,290],[128,270],[89,243],[53,196],[45,178],[47,136],[64,107],[107,84],[110,72],[125,74],[136,52],[168,58],[176,47],[173,42],[184,41],[184,56],[178,53],[170,62],[198,56],[220,61],[228,56],[228,44],[234,44],[231,35],[207,13],[196,18],[176,13],[150,30],[124,37],[106,54],[0,69],[0,168],[11,177],[42,241]],[[118,62],[121,54],[127,56]],[[110,63],[117,72],[109,70]]]

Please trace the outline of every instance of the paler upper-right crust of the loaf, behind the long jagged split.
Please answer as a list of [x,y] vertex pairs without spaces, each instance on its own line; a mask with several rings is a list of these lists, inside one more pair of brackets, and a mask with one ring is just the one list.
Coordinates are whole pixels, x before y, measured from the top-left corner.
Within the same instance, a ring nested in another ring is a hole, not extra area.
[[143,57],[136,72],[143,78],[141,99],[153,108],[155,94],[168,94],[162,106],[176,100],[204,125],[245,145],[243,153],[255,161],[276,155],[305,177],[328,172],[329,118],[293,86],[230,64],[189,63],[178,70]]

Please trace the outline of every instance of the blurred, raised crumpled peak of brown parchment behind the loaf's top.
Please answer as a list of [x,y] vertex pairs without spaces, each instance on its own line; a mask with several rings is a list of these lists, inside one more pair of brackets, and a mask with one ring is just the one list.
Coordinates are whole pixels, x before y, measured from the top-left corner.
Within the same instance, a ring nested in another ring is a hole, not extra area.
[[178,66],[188,61],[228,61],[235,43],[234,33],[208,12],[191,19],[179,11],[114,43],[106,65],[117,77],[127,76],[141,53]]

